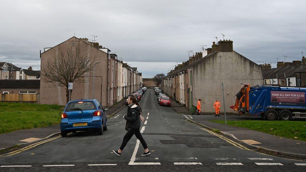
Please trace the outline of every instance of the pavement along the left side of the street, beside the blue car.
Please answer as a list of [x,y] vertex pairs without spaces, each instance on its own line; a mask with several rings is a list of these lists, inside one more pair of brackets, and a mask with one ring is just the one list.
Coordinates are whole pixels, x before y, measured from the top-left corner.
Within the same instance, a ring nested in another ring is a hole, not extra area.
[[[113,114],[121,110],[125,106],[125,99],[108,108],[106,116],[112,117]],[[17,130],[11,133],[0,134],[0,150],[7,149],[15,145],[23,145],[41,141],[60,134],[60,124],[52,125],[44,128],[33,128],[27,130]]]

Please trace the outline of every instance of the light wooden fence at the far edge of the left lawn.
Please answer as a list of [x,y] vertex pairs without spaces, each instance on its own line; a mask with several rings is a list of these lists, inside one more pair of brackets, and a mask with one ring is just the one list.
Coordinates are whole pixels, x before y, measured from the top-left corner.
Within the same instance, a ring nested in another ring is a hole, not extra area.
[[1,94],[0,101],[5,102],[37,102],[39,94]]

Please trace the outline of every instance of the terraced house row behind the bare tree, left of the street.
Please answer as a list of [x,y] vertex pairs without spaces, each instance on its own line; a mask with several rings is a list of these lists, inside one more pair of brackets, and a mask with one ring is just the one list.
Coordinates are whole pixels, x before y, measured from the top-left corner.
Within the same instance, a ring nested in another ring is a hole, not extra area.
[[[78,45],[81,53],[95,57],[99,63],[95,65],[94,82],[93,70],[90,70],[84,75],[83,82],[73,83],[71,100],[96,98],[103,107],[110,107],[142,86],[141,73],[118,60],[108,48],[87,38],[72,37],[52,48],[45,48],[40,55],[41,69],[46,67],[48,60],[59,57],[61,50],[73,45]],[[40,104],[66,105],[66,87],[55,86],[41,75]]]

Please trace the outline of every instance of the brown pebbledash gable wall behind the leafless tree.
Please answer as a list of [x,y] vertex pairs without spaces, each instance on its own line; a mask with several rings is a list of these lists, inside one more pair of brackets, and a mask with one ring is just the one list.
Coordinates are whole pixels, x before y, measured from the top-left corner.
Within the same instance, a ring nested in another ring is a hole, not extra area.
[[[101,61],[95,65],[95,97],[103,107],[107,107],[107,70],[108,70],[108,55],[86,42],[72,37],[63,43],[45,51],[41,54],[41,68],[43,69],[48,60],[53,60],[59,53],[59,46],[62,50],[66,50],[68,46],[72,46],[73,42],[80,45],[81,51],[87,56],[96,57],[95,61]],[[71,92],[71,100],[77,99],[92,99],[93,85],[93,70],[86,74],[89,77],[89,82],[73,83],[73,91]],[[55,86],[45,80],[44,76],[40,76],[40,104],[58,104],[66,105],[66,90],[65,87]]]

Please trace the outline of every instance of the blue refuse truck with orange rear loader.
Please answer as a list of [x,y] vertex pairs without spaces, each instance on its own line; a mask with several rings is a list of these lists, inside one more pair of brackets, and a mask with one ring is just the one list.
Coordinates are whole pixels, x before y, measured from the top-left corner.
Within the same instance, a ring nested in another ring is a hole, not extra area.
[[242,85],[230,107],[239,114],[248,112],[269,121],[306,118],[306,88]]

